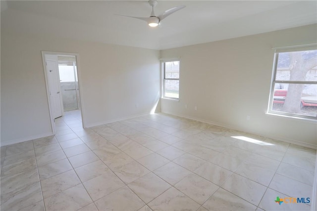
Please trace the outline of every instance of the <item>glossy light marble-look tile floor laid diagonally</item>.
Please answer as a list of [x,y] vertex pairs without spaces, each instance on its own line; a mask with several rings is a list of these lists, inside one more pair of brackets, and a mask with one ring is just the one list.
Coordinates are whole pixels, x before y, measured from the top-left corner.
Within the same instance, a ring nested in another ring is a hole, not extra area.
[[311,198],[314,149],[165,114],[55,126],[1,147],[1,210],[310,210],[274,200]]

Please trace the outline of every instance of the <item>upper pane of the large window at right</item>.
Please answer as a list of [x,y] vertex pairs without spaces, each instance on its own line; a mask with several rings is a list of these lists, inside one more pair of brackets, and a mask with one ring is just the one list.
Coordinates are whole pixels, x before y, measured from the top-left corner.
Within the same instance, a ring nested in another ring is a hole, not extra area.
[[278,53],[275,81],[317,82],[317,50]]

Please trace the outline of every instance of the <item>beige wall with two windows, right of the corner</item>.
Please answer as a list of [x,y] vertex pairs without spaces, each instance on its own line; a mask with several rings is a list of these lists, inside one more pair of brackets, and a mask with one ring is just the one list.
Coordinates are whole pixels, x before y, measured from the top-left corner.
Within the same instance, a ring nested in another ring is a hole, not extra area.
[[272,47],[316,43],[316,30],[308,25],[162,50],[161,58],[180,57],[181,63],[180,100],[162,99],[161,111],[316,148],[316,122],[265,114]]

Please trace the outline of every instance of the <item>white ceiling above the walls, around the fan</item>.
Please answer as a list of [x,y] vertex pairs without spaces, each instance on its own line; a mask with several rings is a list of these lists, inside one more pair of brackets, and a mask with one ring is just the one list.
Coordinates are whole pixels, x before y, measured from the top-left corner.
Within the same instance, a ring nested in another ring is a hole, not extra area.
[[317,1],[159,0],[156,14],[186,5],[150,28],[146,0],[3,1],[1,31],[167,49],[317,23]]

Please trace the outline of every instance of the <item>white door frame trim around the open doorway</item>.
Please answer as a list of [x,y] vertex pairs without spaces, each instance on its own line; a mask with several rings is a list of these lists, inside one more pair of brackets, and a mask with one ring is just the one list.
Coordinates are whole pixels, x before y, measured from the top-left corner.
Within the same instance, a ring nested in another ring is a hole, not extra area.
[[46,70],[46,61],[45,61],[45,55],[63,55],[63,56],[75,56],[76,59],[76,67],[77,67],[77,79],[78,79],[78,87],[79,87],[79,98],[80,98],[80,113],[81,113],[81,119],[82,119],[82,126],[83,128],[86,128],[86,122],[84,117],[84,103],[83,103],[83,95],[82,95],[82,85],[81,85],[81,71],[79,67],[79,54],[78,53],[66,53],[66,52],[55,52],[55,51],[41,51],[42,53],[42,62],[43,62],[43,70],[44,70],[44,78],[45,78],[45,85],[46,85],[46,94],[48,98],[48,106],[49,106],[49,115],[51,119],[51,127],[52,132],[55,135],[55,124],[54,119],[52,115],[52,107],[51,107],[51,99],[50,99],[50,90],[49,90],[49,84],[48,84],[48,76],[47,76],[47,70]]

